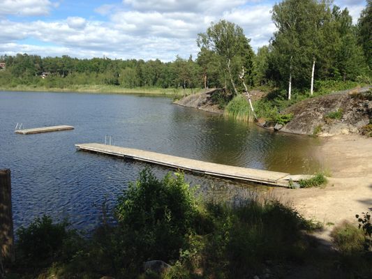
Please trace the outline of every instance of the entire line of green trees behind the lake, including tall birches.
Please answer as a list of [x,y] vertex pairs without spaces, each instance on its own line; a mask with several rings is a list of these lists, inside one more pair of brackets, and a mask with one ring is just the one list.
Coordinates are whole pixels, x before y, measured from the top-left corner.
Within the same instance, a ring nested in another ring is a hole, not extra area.
[[[68,87],[109,84],[133,88],[225,88],[231,95],[248,86],[276,86],[314,90],[314,81],[371,82],[372,0],[367,0],[357,24],[348,9],[327,0],[285,0],[276,3],[271,17],[276,25],[268,45],[253,52],[250,39],[237,24],[221,20],[198,34],[196,59],[177,56],[158,59],[77,59],[17,54],[0,56],[6,70],[0,85],[36,84]],[[45,79],[40,75],[47,73]]]

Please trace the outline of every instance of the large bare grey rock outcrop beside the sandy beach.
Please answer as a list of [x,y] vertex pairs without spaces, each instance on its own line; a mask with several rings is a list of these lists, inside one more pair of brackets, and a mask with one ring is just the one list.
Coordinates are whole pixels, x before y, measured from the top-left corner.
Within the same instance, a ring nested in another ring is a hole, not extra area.
[[[339,115],[332,116],[336,112]],[[294,115],[283,132],[325,137],[359,133],[372,119],[371,86],[309,98],[283,113]]]

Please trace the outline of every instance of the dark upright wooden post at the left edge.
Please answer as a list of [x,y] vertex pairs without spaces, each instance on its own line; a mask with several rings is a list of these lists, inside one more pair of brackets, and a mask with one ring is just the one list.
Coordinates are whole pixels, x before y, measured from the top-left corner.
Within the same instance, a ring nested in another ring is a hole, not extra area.
[[15,261],[10,169],[0,169],[0,258]]

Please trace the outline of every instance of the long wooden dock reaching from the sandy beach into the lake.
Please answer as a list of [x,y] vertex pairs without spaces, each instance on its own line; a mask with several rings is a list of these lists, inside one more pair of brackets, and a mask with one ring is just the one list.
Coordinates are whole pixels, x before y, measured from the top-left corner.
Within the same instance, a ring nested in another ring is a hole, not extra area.
[[271,172],[262,169],[248,169],[246,167],[234,167],[216,163],[207,163],[200,160],[170,156],[163,153],[144,151],[140,149],[129,149],[125,147],[106,144],[75,144],[77,150],[103,153],[120,158],[138,160],[154,165],[163,165],[175,169],[183,169],[200,174],[208,174],[228,179],[238,179],[271,186],[288,187],[289,181],[307,179],[308,175],[290,175],[285,172]]

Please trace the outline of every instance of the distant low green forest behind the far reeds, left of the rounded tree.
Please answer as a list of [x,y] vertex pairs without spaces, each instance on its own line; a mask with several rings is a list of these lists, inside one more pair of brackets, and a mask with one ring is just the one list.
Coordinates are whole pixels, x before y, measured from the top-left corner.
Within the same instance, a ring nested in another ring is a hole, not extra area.
[[[73,59],[69,56],[45,57],[17,54],[0,56],[6,70],[0,71],[0,87],[20,85],[45,89],[74,89],[82,85],[157,88],[196,88],[202,84],[200,68],[192,57],[177,56],[176,61],[156,60]],[[41,73],[48,73],[44,79]],[[29,88],[28,87],[28,88]],[[142,89],[143,91],[143,89]]]

